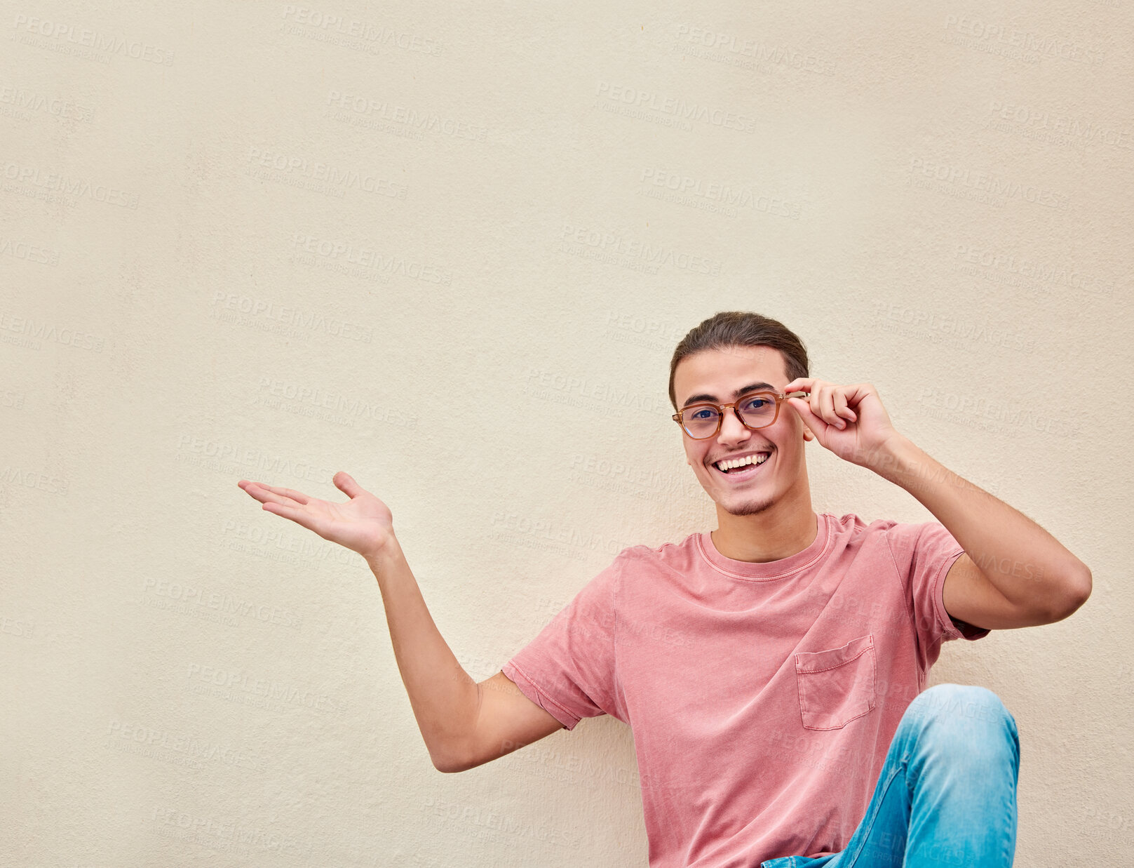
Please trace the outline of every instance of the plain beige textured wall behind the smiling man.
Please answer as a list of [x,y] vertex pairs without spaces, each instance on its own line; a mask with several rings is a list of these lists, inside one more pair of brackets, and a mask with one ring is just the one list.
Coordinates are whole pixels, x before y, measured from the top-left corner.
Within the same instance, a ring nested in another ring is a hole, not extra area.
[[[627,727],[439,774],[365,564],[236,481],[354,474],[488,677],[716,526],[666,384],[731,309],[1092,568],[932,681],[1016,716],[1017,865],[1124,863],[1125,5],[102,6],[0,16],[14,863],[645,865]],[[932,517],[809,453],[818,511]]]

